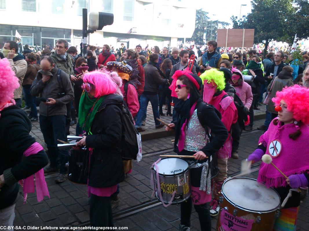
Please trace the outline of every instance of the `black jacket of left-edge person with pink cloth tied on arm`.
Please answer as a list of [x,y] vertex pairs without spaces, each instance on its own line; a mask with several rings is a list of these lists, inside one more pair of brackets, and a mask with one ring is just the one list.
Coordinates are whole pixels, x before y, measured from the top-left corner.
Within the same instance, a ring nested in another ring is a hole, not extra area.
[[27,178],[48,164],[44,150],[30,156],[23,153],[36,140],[30,136],[32,124],[27,113],[17,106],[1,111],[0,118],[0,175],[5,184],[0,191],[0,209],[12,205],[18,194],[18,180]]

